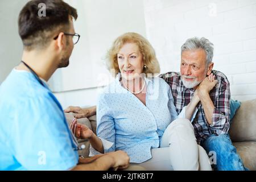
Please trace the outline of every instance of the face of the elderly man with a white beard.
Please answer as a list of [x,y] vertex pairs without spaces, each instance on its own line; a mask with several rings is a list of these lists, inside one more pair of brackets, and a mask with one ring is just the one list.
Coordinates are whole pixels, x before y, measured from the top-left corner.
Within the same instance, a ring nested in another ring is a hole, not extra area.
[[206,54],[203,49],[181,53],[180,75],[186,88],[195,88],[207,74]]

